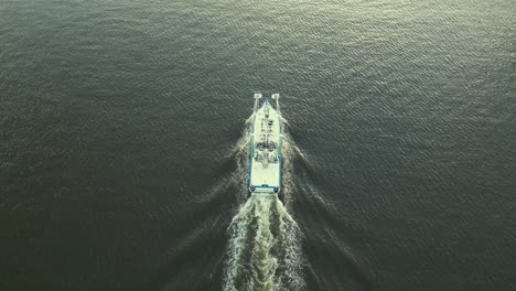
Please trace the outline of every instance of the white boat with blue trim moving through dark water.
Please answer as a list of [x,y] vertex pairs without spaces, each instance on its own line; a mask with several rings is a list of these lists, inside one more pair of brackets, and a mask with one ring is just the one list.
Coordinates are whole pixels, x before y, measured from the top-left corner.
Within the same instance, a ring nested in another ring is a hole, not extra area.
[[249,146],[249,191],[251,194],[280,192],[282,139],[283,125],[279,94],[272,94],[270,98],[262,94],[255,94]]

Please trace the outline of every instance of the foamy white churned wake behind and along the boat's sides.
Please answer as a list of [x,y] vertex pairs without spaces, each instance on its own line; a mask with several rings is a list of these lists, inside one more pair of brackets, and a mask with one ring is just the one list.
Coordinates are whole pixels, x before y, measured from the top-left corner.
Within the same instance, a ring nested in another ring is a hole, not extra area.
[[[283,197],[290,201],[295,148],[286,137]],[[240,208],[228,227],[225,291],[303,290],[301,233],[278,195],[254,194],[247,198],[249,137],[238,141],[232,155],[237,162],[235,182],[241,183]],[[299,151],[299,150],[298,150]],[[288,205],[288,203],[287,203]]]

